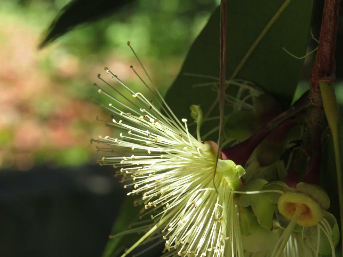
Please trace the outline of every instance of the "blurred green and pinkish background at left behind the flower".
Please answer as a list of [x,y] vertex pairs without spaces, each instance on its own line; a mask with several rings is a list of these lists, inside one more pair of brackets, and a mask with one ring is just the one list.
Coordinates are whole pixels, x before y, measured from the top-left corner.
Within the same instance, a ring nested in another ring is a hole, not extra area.
[[0,2],[0,169],[94,163],[89,139],[108,134],[95,120],[101,110],[90,101],[92,95],[99,98],[92,86],[97,74],[108,66],[144,93],[129,68],[140,71],[126,44],[131,41],[163,94],[219,0],[139,0],[37,50],[68,2]]

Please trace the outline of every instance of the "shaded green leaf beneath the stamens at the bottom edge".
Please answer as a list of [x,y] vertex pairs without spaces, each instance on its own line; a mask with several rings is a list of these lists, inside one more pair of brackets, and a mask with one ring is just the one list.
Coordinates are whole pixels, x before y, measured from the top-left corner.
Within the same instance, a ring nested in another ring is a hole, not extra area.
[[[113,224],[111,235],[127,231],[129,225],[138,220],[139,217],[134,216],[134,213],[139,213],[141,208],[141,206],[133,206],[133,197],[127,197],[120,207],[117,219]],[[118,256],[124,252],[125,248],[131,246],[140,237],[141,235],[137,233],[130,233],[109,238],[102,257]]]

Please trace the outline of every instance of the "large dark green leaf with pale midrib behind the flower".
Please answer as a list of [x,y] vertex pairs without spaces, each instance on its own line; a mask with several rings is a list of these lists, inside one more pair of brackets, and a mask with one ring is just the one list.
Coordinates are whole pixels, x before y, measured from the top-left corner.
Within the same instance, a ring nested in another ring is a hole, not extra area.
[[[234,75],[234,78],[253,82],[286,108],[293,99],[304,60],[290,56],[282,46],[297,56],[306,53],[313,0],[291,1],[257,42],[256,39],[284,3],[280,0],[228,1],[226,74],[227,79]],[[191,46],[178,77],[166,94],[167,103],[180,119],[190,118],[188,109],[192,104],[200,104],[206,113],[217,101],[217,91],[211,86],[194,88],[193,85],[218,82],[215,78],[219,77],[219,21],[217,8]],[[252,47],[254,43],[255,48]],[[251,54],[245,58],[248,52]],[[246,61],[235,72],[243,59]],[[187,73],[214,78],[189,76]],[[217,106],[213,110],[209,117],[219,115]],[[226,114],[230,110],[226,108]],[[208,118],[206,114],[205,118]],[[202,135],[213,127],[213,122],[205,122]],[[212,136],[217,140],[217,133]]]

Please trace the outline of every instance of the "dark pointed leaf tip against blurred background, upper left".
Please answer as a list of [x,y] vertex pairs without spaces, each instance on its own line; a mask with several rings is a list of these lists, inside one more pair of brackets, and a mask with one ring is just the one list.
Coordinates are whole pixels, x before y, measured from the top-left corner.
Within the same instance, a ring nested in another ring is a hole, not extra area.
[[66,34],[75,26],[102,19],[113,14],[133,0],[72,0],[57,14],[49,25],[44,39],[39,44],[43,48],[56,38]]

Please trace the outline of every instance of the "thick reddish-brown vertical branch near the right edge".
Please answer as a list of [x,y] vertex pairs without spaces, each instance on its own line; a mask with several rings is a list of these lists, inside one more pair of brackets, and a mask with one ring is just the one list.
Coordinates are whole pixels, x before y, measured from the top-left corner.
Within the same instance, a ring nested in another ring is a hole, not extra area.
[[[335,81],[335,50],[339,5],[340,0],[326,0],[324,3],[318,51],[311,72],[309,99],[312,102],[312,107],[309,110],[307,119],[308,136],[311,138],[308,151],[311,157],[305,179],[312,182],[319,182],[322,152],[321,134],[324,126],[319,82]],[[314,176],[314,178],[311,178],[311,176]]]

